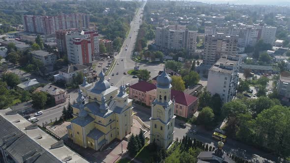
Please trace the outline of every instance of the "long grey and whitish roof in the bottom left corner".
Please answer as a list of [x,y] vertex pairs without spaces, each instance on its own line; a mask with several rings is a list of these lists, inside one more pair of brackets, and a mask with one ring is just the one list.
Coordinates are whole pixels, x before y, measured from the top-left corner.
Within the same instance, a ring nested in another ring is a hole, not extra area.
[[[68,156],[71,160],[66,163],[88,163],[87,160],[66,147],[51,148],[51,145],[58,142],[57,139],[48,135],[40,128],[25,130],[31,123],[19,114],[6,115],[11,109],[0,110],[0,146],[4,148],[19,163],[23,163],[23,155],[31,150],[36,150],[40,155],[37,156],[35,163],[62,163]],[[5,143],[4,136],[15,135],[15,140]],[[34,156],[34,155],[33,155]]]

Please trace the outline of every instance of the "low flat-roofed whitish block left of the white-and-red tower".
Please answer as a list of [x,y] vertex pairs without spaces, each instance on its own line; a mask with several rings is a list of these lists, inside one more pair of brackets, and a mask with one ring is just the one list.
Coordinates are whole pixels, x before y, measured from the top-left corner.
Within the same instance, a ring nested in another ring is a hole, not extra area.
[[39,50],[39,51],[32,51],[30,53],[32,54],[33,58],[36,58],[42,61],[44,66],[51,66],[54,63],[56,63],[56,60],[57,60],[56,54],[52,54],[46,51]]

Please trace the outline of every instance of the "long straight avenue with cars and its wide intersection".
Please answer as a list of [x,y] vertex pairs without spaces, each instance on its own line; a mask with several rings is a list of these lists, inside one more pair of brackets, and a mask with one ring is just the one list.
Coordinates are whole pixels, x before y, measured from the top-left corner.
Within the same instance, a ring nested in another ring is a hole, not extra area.
[[[140,25],[142,24],[142,19],[140,17],[143,16],[143,9],[144,6],[142,8],[139,8],[138,12],[136,13],[134,20],[130,24],[131,28],[129,34],[124,40],[123,46],[121,47],[119,54],[115,56],[116,65],[110,72],[110,74],[105,77],[105,79],[110,78],[109,82],[111,84],[113,83],[114,86],[120,86],[120,84],[123,83],[134,84],[138,82],[138,79],[134,79],[131,75],[124,75],[123,73],[127,73],[129,70],[134,69],[135,66],[135,62],[131,59],[131,55],[134,51],[138,30],[140,28]],[[137,63],[137,66],[140,66],[140,69],[147,69],[148,71],[150,71],[151,78],[156,77],[158,75],[158,72],[163,70],[162,64]],[[118,75],[116,75],[116,73],[118,73]],[[112,76],[113,74],[114,76]]]

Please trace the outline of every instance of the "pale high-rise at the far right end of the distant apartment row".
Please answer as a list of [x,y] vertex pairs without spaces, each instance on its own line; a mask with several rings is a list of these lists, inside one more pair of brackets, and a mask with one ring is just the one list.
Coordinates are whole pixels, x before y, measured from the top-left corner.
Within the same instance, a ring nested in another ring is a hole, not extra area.
[[264,43],[273,45],[276,39],[276,30],[277,27],[267,27],[264,25],[261,31],[261,39],[263,39]]

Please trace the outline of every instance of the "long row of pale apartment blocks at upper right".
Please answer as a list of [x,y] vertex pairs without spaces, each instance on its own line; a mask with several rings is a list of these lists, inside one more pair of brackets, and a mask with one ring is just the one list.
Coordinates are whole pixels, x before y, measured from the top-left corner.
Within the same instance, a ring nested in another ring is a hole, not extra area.
[[224,33],[225,35],[238,35],[238,47],[255,46],[259,39],[264,43],[273,45],[275,42],[276,27],[267,26],[245,26],[241,27],[205,27],[204,34],[215,35]]

